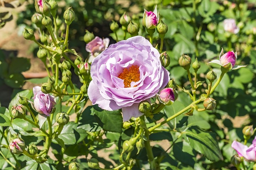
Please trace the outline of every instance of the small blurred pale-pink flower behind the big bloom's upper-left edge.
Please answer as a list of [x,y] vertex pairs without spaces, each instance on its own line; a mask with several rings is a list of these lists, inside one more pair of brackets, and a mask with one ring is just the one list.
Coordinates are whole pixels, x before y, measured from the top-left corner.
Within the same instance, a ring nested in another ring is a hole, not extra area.
[[108,48],[109,38],[100,38],[96,36],[92,41],[86,44],[86,51],[90,52],[90,57],[88,62],[91,63],[92,60],[98,56],[102,51]]

